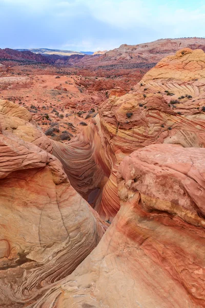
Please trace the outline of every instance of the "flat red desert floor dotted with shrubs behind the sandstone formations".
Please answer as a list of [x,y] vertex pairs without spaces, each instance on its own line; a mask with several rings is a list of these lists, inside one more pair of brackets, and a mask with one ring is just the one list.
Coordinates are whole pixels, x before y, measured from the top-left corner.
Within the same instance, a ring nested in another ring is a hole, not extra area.
[[48,65],[37,70],[14,66],[0,73],[0,98],[26,107],[47,136],[65,142],[89,124],[102,102],[127,93],[144,74],[137,70],[130,80],[123,73],[107,77],[92,76],[92,71],[91,76],[72,73]]

